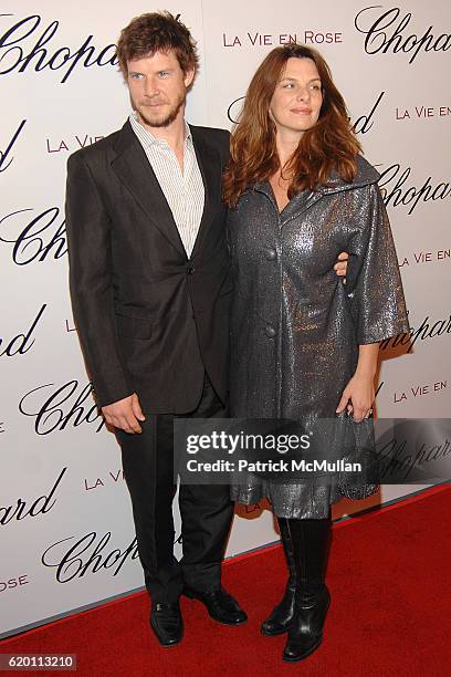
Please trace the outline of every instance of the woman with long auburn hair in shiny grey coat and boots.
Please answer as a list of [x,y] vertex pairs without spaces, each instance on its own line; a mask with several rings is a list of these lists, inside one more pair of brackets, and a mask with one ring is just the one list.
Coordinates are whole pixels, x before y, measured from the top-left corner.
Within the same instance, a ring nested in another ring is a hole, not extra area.
[[[276,48],[252,79],[224,176],[235,278],[231,413],[333,419],[356,429],[373,413],[378,342],[408,331],[379,175],[359,155],[346,105],[324,59]],[[346,285],[333,264],[349,252]],[[363,498],[376,486],[354,487]],[[325,569],[331,504],[340,482],[251,476],[234,500],[272,502],[290,576],[262,625],[287,631],[284,659],[322,640],[329,605]]]

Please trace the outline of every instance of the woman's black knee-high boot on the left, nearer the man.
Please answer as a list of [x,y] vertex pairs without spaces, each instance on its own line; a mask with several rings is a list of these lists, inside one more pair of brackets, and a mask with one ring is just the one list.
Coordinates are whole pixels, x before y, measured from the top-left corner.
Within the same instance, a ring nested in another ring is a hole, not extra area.
[[277,522],[289,567],[289,581],[282,601],[262,623],[262,634],[268,637],[281,635],[289,629],[294,615],[294,596],[296,590],[296,566],[294,562],[293,544],[289,532],[289,523],[284,518],[277,518]]

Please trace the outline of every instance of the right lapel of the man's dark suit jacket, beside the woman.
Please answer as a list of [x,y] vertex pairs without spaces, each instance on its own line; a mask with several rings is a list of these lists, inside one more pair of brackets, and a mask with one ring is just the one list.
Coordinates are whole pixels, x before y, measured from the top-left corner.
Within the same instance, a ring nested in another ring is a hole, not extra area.
[[195,258],[201,249],[202,241],[208,232],[211,221],[218,210],[218,205],[221,201],[221,159],[219,153],[213,146],[207,143],[203,135],[197,127],[191,127],[192,143],[196,150],[196,157],[202,175],[203,187],[206,190],[202,218],[200,221],[195,247],[191,258]]

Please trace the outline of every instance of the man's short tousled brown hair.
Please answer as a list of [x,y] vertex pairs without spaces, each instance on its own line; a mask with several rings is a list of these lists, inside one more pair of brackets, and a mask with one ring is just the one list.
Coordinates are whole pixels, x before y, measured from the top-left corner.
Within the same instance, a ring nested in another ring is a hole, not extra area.
[[183,73],[198,70],[196,41],[181,21],[170,12],[135,17],[122,31],[117,44],[117,58],[124,77],[127,77],[127,61],[169,51],[175,52]]

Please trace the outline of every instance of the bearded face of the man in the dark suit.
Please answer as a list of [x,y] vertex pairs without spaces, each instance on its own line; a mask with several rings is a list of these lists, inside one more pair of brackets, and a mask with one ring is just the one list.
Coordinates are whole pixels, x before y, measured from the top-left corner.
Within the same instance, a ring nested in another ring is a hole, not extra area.
[[183,73],[174,52],[127,62],[132,105],[147,127],[168,127],[183,115],[193,71]]

